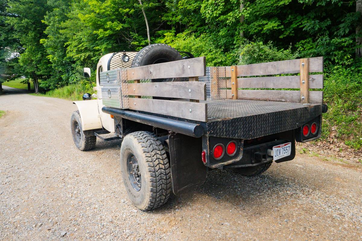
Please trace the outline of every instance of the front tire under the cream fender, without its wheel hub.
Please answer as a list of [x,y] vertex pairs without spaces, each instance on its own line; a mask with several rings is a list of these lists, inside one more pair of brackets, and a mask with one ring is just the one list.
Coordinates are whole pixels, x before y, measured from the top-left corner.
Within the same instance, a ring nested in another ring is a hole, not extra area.
[[[79,110],[73,112],[70,123],[73,141],[76,147],[81,151],[89,151],[93,149],[96,146],[97,137],[84,135]],[[76,123],[79,125],[80,139],[77,137],[76,130],[74,128]]]

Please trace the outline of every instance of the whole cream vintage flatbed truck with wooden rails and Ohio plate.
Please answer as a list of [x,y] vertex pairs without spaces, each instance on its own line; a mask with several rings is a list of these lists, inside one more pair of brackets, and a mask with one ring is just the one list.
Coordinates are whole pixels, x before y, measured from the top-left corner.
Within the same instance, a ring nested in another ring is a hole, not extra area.
[[97,64],[97,98],[74,102],[73,140],[81,151],[97,137],[122,140],[127,194],[152,210],[171,191],[202,185],[211,169],[258,175],[292,160],[295,141],[320,138],[327,106],[318,72],[323,57],[206,67],[205,57],[163,44],[110,53]]

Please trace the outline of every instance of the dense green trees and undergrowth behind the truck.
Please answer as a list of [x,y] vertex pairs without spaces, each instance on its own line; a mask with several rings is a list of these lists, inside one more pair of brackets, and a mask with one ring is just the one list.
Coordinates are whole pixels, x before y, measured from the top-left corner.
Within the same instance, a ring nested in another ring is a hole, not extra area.
[[0,1],[0,83],[25,76],[45,91],[66,94],[79,83],[89,89],[81,81],[83,67],[94,71],[104,54],[148,44],[143,9],[152,43],[206,56],[210,66],[324,56],[331,105],[324,130],[345,126],[338,135],[361,145],[362,69],[355,50],[361,48],[362,16],[356,1]]

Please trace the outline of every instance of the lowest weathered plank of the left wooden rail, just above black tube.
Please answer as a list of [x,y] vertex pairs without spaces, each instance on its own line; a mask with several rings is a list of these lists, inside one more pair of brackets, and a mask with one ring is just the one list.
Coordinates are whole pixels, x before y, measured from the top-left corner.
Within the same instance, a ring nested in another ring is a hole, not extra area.
[[207,104],[186,101],[129,98],[130,109],[207,122]]

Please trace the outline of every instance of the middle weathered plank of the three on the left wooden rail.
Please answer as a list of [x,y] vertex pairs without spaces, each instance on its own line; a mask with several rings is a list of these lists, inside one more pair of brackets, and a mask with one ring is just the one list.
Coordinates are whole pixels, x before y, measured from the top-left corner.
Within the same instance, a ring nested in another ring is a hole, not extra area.
[[156,82],[127,84],[128,94],[206,100],[206,84],[200,82]]

